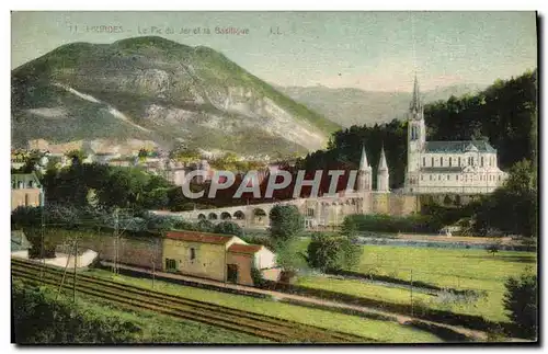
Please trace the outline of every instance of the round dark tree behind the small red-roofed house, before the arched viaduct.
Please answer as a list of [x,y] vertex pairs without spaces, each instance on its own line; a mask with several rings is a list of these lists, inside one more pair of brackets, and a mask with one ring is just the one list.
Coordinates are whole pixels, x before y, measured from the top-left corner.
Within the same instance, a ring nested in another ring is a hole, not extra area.
[[275,205],[270,213],[270,233],[276,244],[295,239],[305,228],[302,215],[295,205]]

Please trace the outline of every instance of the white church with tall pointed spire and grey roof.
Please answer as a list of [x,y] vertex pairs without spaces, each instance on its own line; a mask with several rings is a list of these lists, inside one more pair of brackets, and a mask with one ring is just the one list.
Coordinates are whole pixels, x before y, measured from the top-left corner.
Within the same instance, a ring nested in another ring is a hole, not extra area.
[[408,123],[407,193],[491,193],[506,179],[498,167],[496,149],[488,141],[426,141],[416,77]]

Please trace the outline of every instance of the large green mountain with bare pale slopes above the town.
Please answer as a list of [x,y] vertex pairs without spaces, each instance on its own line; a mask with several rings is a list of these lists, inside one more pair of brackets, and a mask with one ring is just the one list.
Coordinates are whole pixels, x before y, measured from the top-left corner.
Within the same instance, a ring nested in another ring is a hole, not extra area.
[[162,37],[72,43],[12,70],[12,145],[180,144],[239,153],[322,148],[339,125],[222,54]]

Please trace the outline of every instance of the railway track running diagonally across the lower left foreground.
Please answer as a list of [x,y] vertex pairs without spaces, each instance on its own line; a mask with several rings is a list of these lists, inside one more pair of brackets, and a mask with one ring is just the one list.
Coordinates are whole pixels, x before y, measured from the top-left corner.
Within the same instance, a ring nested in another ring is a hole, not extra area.
[[[27,282],[41,282],[41,264],[12,259],[12,275]],[[58,286],[64,270],[44,267],[43,282]],[[66,279],[69,287],[72,279]],[[307,326],[275,317],[242,311],[181,296],[168,295],[110,279],[78,274],[79,293],[106,299],[129,309],[146,309],[176,318],[198,321],[228,330],[283,343],[370,343],[373,339]]]

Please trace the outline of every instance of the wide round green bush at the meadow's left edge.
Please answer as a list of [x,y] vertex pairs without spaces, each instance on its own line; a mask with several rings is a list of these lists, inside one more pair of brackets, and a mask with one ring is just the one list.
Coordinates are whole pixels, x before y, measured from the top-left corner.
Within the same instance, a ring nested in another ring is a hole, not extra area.
[[350,270],[359,262],[361,248],[341,236],[316,233],[307,249],[308,264],[326,271]]

